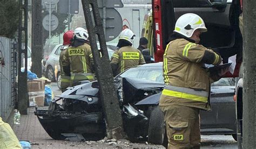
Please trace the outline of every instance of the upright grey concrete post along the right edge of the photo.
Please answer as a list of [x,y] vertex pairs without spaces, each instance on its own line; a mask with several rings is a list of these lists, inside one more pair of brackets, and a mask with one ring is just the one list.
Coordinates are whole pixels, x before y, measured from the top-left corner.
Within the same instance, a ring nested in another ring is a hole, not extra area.
[[243,148],[256,146],[256,1],[243,1]]

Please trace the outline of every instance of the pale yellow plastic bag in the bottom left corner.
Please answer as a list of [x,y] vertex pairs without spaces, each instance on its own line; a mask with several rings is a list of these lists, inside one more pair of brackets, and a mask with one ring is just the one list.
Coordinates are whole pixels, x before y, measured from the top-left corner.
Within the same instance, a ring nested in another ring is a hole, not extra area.
[[0,148],[22,148],[11,126],[3,122],[2,117],[0,117]]

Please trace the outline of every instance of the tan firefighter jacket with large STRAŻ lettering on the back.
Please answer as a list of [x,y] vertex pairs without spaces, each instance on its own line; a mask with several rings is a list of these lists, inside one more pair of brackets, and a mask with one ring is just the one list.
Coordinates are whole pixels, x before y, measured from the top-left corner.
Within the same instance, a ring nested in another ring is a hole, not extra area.
[[[70,74],[68,74],[69,71],[66,70],[67,67],[70,67]],[[95,80],[93,75],[93,58],[90,45],[83,44],[66,49],[63,68],[65,75],[71,76],[71,86],[76,86],[79,81]]]

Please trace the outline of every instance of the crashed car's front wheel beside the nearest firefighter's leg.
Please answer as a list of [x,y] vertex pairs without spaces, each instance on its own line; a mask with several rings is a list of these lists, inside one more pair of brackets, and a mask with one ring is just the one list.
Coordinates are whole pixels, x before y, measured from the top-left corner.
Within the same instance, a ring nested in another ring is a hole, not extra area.
[[164,113],[160,110],[159,107],[155,107],[150,115],[149,122],[149,133],[148,133],[148,141],[152,144],[160,144],[164,143],[166,140],[166,124],[164,122]]

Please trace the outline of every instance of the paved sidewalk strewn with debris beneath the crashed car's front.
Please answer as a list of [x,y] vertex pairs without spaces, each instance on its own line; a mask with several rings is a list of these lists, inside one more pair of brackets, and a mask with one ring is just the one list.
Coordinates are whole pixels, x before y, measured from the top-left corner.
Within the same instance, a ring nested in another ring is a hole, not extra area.
[[147,144],[108,144],[94,141],[75,142],[69,140],[53,140],[43,129],[37,117],[34,115],[35,108],[28,109],[28,115],[21,116],[21,124],[13,124],[10,118],[9,124],[19,140],[27,140],[32,143],[32,148],[164,148],[161,145]]

